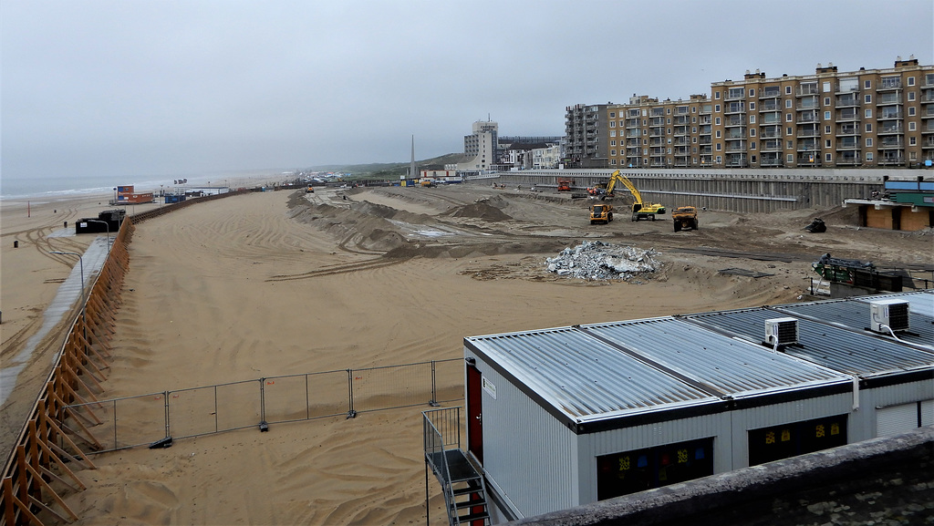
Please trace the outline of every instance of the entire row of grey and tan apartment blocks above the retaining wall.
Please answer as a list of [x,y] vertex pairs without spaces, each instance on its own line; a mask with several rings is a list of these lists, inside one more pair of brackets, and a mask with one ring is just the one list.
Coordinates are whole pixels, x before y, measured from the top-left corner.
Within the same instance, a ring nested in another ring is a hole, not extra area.
[[568,107],[569,154],[582,163],[605,155],[608,168],[934,163],[934,65],[913,56],[886,69],[817,64],[814,75],[779,78],[746,71],[710,90],[686,101],[633,95],[625,105]]

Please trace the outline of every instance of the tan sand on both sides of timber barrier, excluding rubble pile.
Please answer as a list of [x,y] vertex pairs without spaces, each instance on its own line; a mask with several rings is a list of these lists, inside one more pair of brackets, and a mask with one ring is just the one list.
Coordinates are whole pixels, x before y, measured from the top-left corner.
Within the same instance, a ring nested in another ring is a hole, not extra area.
[[[143,222],[99,397],[459,359],[463,337],[476,334],[788,303],[805,293],[810,262],[825,252],[877,264],[931,260],[929,231],[856,229],[855,210],[707,211],[700,231],[673,233],[670,220],[591,226],[586,203],[544,197],[466,185],[262,192]],[[106,197],[82,198],[31,205],[27,218],[24,206],[4,202],[5,362],[75,264],[48,251],[80,251],[91,240],[51,235],[105,208]],[[801,230],[818,216],[826,235]],[[630,283],[546,272],[546,258],[583,239],[654,248],[664,270]],[[717,272],[728,267],[770,276]],[[3,406],[6,448],[63,336],[53,331],[36,348]],[[446,383],[439,387],[461,389]],[[79,472],[88,489],[66,502],[78,524],[424,523],[420,412],[429,408],[96,455],[98,469]],[[432,523],[443,523],[433,479],[430,488]]]

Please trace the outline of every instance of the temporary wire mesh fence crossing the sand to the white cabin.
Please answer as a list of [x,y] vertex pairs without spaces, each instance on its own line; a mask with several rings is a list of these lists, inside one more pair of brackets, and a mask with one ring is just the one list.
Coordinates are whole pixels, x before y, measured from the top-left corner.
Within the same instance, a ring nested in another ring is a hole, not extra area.
[[463,399],[460,359],[262,377],[65,407],[100,447],[89,453],[168,445],[249,427]]

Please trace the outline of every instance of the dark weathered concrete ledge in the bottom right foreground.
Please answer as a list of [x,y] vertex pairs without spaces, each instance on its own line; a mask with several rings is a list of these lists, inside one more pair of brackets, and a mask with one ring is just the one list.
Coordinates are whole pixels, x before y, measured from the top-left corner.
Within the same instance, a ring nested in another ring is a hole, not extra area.
[[934,517],[934,426],[510,524],[883,524],[889,516]]

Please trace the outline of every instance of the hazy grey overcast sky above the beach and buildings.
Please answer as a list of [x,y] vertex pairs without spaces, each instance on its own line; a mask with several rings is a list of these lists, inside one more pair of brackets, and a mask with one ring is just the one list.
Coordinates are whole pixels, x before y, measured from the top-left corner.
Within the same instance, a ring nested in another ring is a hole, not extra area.
[[407,162],[474,121],[934,64],[932,0],[3,0],[3,177]]

